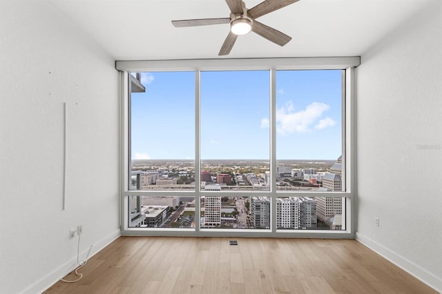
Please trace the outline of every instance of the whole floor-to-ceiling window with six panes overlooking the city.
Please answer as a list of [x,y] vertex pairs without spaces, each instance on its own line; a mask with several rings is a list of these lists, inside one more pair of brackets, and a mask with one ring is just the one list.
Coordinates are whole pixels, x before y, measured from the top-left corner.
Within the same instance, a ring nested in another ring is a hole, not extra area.
[[352,235],[358,59],[336,60],[117,62],[122,233]]

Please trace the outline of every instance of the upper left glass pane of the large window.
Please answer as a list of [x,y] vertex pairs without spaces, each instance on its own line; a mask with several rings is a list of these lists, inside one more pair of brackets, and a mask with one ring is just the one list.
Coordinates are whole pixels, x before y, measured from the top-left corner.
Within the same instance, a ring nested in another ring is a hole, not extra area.
[[129,79],[129,188],[194,189],[195,72],[137,72]]

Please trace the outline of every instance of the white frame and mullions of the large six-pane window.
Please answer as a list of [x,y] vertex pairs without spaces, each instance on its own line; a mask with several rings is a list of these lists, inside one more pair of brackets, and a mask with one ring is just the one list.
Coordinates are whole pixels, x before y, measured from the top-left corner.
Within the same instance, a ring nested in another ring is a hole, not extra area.
[[[273,58],[273,59],[193,59],[155,61],[116,61],[120,72],[120,229],[122,235],[163,235],[163,236],[206,236],[206,237],[318,237],[354,238],[356,228],[356,82],[355,68],[361,63],[360,57],[318,57],[318,58]],[[269,191],[204,191],[200,189],[200,72],[213,70],[269,70],[270,71],[270,174],[276,175],[276,70],[343,70],[343,176],[344,192],[290,192],[276,190],[276,177],[271,177]],[[130,146],[130,101],[128,92],[129,72],[195,72],[195,190],[129,190],[128,173]],[[297,195],[298,194],[298,195]],[[195,197],[195,208],[200,208],[204,195],[270,198],[270,228],[267,229],[222,229],[200,228],[200,209],[195,209],[195,228],[131,228],[129,227],[129,196]],[[345,230],[281,230],[276,228],[277,197],[342,197],[345,205],[343,223]]]

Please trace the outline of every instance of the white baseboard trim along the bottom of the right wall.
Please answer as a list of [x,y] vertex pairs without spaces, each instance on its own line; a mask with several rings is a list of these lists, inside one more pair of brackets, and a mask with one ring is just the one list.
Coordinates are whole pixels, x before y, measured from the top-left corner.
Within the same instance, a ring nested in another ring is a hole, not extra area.
[[394,251],[391,251],[389,248],[383,246],[382,244],[379,244],[378,242],[361,233],[356,232],[356,240],[361,244],[364,244],[368,248],[372,249],[372,251],[378,253],[378,255],[381,255],[396,266],[402,268],[407,273],[410,273],[410,275],[413,275],[417,279],[421,280],[421,282],[434,288],[434,290],[438,291],[439,293],[442,293],[441,277],[436,277],[436,275],[425,270],[425,268],[422,268],[418,264],[415,264],[402,255],[398,255]]

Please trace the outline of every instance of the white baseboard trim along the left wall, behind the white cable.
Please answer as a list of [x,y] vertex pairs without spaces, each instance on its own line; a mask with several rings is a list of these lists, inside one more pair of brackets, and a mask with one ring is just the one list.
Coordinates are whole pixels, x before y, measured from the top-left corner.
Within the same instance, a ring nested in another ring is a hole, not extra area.
[[[117,239],[121,235],[120,230],[113,231],[113,233],[107,235],[103,239],[99,240],[95,244],[93,244],[93,247],[90,251],[90,257],[93,257],[93,255],[97,254],[99,251],[102,251],[102,249],[108,244],[111,244],[115,239]],[[81,251],[81,256],[86,256],[88,254],[89,247],[84,249],[84,251]],[[64,277],[71,271],[73,271],[75,268],[77,268],[77,255],[73,257],[72,259],[69,259],[68,262],[62,264],[59,266],[59,268],[56,268],[54,271],[48,273],[45,277],[42,277],[39,281],[35,282],[28,288],[26,288],[22,293],[23,294],[35,294],[35,293],[42,293],[46,291],[50,286],[58,282],[61,277]]]

